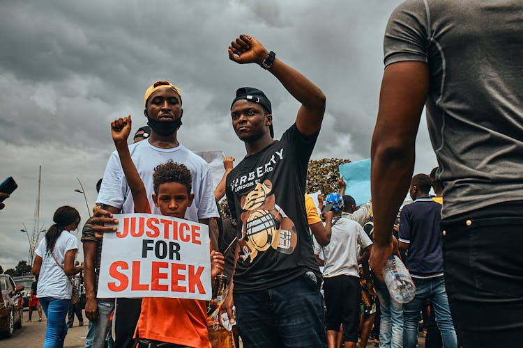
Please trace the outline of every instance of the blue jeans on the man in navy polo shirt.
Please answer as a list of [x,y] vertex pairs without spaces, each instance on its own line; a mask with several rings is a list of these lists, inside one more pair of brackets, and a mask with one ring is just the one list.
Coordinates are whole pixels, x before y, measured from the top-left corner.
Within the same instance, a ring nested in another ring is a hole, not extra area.
[[418,319],[425,299],[429,299],[436,315],[436,323],[441,331],[441,340],[445,348],[457,348],[456,331],[445,290],[444,276],[434,278],[412,278],[416,285],[416,296],[403,305],[403,343],[404,347],[415,348],[418,345]]

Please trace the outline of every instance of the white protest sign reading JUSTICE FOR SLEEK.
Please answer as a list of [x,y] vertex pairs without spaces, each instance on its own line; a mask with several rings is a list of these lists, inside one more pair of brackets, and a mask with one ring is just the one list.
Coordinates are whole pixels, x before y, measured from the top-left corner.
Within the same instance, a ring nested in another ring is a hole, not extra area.
[[97,297],[210,300],[208,227],[171,216],[114,214],[103,237]]

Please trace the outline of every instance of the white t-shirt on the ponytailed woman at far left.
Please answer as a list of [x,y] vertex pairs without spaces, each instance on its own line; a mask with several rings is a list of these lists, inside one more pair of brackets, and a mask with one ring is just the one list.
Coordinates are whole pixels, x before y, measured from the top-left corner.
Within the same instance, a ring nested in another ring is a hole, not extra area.
[[[58,239],[56,239],[53,251],[56,260],[62,267],[65,266],[63,260],[66,258],[66,253],[73,249],[78,251],[78,239],[68,231],[63,230]],[[38,298],[54,297],[55,299],[70,299],[71,292],[73,292],[73,285],[71,285],[68,276],[66,276],[66,272],[56,264],[51,253],[47,251],[45,238],[42,239],[35,253],[42,258],[42,267],[40,267],[37,285]],[[75,260],[76,255],[77,252],[75,253]]]

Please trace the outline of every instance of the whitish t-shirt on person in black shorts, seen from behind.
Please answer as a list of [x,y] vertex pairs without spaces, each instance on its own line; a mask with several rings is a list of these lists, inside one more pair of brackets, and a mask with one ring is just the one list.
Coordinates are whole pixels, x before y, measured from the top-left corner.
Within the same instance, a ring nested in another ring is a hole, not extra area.
[[367,248],[372,244],[359,223],[340,217],[332,227],[331,242],[320,246],[314,239],[314,255],[324,252],[324,277],[358,275],[358,244]]

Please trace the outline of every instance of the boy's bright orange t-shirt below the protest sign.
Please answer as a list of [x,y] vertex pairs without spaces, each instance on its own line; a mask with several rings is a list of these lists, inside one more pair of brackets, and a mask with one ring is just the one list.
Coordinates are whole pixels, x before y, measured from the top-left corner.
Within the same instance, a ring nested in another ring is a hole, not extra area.
[[[147,205],[146,213],[151,214]],[[146,297],[135,337],[188,347],[211,348],[204,300]]]

